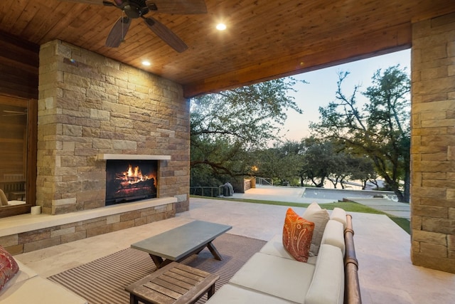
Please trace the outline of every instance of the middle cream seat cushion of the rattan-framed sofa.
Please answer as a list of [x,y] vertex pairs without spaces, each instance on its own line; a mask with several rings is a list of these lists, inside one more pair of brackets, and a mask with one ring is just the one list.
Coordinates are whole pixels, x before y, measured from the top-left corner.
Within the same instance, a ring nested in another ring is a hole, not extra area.
[[278,298],[304,303],[314,265],[265,253],[255,253],[230,283]]

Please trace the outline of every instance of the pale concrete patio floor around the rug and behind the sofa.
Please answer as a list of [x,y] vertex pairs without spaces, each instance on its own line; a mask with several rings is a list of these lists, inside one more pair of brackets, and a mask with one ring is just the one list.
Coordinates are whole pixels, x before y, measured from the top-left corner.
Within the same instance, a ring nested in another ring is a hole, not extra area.
[[[294,209],[299,214],[304,212],[304,208]],[[230,234],[267,241],[282,233],[286,210],[286,206],[248,204],[234,199],[192,198],[190,210],[173,219],[15,257],[48,277],[195,219],[232,225]],[[455,303],[455,274],[413,266],[410,236],[387,216],[353,213],[353,228],[363,303]]]

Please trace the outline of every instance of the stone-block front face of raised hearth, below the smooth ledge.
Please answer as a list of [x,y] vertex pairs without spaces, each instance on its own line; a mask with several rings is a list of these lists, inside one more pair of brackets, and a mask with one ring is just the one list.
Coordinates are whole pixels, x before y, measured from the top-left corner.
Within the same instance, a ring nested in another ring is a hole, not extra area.
[[95,217],[44,229],[0,236],[0,245],[11,254],[26,253],[100,234],[169,219],[176,215],[176,203]]

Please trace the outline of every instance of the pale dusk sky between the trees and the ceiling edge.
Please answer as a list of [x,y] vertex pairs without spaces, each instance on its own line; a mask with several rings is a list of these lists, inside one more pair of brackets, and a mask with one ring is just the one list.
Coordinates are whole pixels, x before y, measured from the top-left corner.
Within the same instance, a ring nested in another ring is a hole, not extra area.
[[342,89],[345,95],[350,96],[354,86],[361,85],[357,95],[358,104],[361,105],[365,102],[365,98],[360,92],[365,91],[371,85],[371,78],[378,69],[385,70],[392,65],[400,64],[401,68],[406,67],[407,73],[410,73],[410,61],[411,51],[408,49],[295,75],[294,78],[297,80],[308,82],[296,84],[297,92],[290,94],[294,96],[294,101],[304,112],[303,114],[295,111],[287,112],[288,118],[282,127],[282,137],[286,137],[287,140],[300,141],[309,136],[310,122],[319,121],[319,107],[325,107],[335,100],[339,71],[350,73],[348,78],[343,80]]

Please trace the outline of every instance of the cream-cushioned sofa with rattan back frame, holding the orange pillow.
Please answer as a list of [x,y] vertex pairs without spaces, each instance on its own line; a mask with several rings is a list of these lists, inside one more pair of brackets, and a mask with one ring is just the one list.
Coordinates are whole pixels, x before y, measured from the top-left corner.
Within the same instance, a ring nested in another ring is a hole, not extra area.
[[334,209],[318,255],[306,263],[288,253],[281,234],[274,236],[206,303],[361,303],[350,220],[343,209]]

